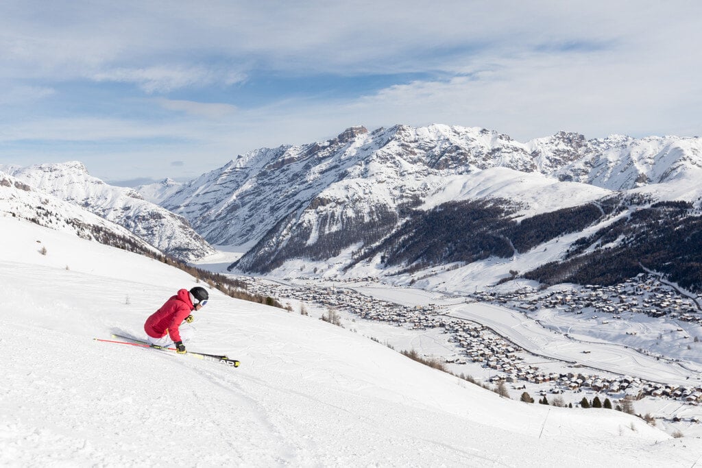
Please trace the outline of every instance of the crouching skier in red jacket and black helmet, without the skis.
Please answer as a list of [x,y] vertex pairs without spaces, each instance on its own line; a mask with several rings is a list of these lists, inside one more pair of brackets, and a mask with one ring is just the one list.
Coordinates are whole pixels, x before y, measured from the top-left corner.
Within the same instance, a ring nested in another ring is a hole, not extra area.
[[[178,354],[185,354],[183,337],[180,335],[180,324],[183,321],[191,323],[193,321],[191,312],[206,305],[208,297],[207,290],[200,286],[195,286],[190,291],[187,289],[179,290],[176,295],[168,299],[160,309],[146,319],[144,331],[149,344],[163,347],[175,344]],[[185,340],[187,340],[190,334],[184,333],[184,335]]]

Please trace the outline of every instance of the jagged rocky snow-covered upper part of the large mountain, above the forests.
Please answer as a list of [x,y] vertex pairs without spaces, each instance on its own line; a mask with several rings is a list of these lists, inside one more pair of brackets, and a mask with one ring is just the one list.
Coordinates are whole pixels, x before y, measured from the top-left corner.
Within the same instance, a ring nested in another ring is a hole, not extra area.
[[247,152],[163,204],[209,241],[244,245],[287,217],[297,219],[310,204],[328,206],[316,199],[336,199],[349,213],[371,213],[378,206],[396,212],[442,192],[442,178],[498,167],[607,190],[633,189],[686,173],[700,159],[698,147],[694,139],[586,140],[566,131],[522,143],[486,128],[439,123],[372,132],[358,126],[323,142]]

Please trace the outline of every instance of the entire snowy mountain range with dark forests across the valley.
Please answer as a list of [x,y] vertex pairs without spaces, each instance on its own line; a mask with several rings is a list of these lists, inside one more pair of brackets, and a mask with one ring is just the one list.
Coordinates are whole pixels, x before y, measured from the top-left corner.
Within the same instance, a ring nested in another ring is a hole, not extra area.
[[77,162],[0,170],[180,259],[211,244],[239,250],[232,272],[426,288],[458,278],[472,290],[616,283],[645,269],[702,291],[697,137],[560,132],[522,143],[476,127],[357,126],[138,192]]

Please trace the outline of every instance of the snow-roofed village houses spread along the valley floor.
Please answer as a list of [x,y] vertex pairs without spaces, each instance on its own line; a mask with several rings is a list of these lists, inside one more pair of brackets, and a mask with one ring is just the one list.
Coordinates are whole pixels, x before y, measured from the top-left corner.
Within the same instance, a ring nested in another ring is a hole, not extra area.
[[[696,314],[694,302],[681,299],[672,290],[650,277],[643,281],[628,281],[620,286],[584,286],[568,293],[512,293],[495,295],[474,293],[472,300],[498,303],[508,307],[567,308],[579,313],[587,307],[599,312],[615,315],[624,311],[648,314],[665,311],[669,315],[678,314],[679,319],[701,321]],[[347,288],[316,286],[284,286],[265,281],[244,280],[249,285],[249,292],[271,295],[280,299],[289,297],[305,302],[317,302],[329,308],[343,309],[362,319],[383,321],[397,326],[413,329],[444,328],[449,333],[449,342],[458,348],[455,356],[446,359],[447,363],[463,364],[468,361],[495,370],[491,382],[517,383],[531,382],[548,385],[548,392],[579,392],[583,390],[608,394],[621,398],[624,394],[632,396],[658,396],[678,399],[689,403],[702,403],[702,385],[698,387],[676,387],[654,382],[642,381],[635,377],[602,377],[579,372],[545,373],[538,367],[524,362],[517,348],[503,337],[496,335],[489,328],[470,321],[456,319],[445,315],[445,310],[437,305],[404,306],[393,302],[378,300],[362,295]],[[702,321],[701,321],[702,322]]]

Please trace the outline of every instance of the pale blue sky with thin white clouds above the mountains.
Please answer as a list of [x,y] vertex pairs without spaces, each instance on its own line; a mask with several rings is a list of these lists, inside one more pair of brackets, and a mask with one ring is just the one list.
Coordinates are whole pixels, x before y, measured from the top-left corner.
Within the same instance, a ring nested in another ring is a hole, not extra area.
[[190,180],[397,123],[702,135],[698,1],[0,2],[0,163]]

